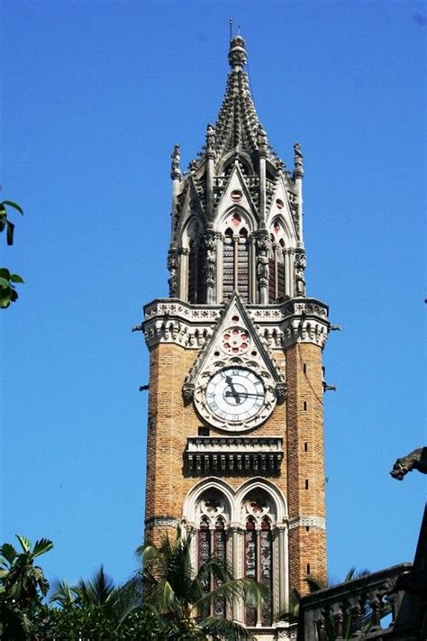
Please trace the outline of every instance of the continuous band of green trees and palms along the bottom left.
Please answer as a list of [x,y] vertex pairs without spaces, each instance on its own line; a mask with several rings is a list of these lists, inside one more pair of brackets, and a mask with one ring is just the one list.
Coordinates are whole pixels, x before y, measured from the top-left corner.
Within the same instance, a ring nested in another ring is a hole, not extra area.
[[51,541],[32,546],[24,536],[17,539],[21,550],[8,543],[0,548],[5,641],[241,641],[253,637],[230,619],[233,601],[255,607],[268,596],[257,581],[234,579],[214,557],[195,572],[191,536],[179,530],[173,543],[166,536],[159,546],[141,546],[141,569],[123,585],[101,566],[87,581],[56,580],[50,588],[34,562]]

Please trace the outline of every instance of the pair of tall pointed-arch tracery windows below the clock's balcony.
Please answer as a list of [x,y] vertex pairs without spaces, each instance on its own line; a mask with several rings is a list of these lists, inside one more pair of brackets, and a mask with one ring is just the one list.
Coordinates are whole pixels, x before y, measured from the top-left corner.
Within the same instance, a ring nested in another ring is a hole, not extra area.
[[[286,504],[262,480],[244,483],[237,491],[219,483],[206,480],[204,489],[195,490],[194,498],[190,494],[184,508],[184,517],[195,532],[195,571],[214,556],[217,561],[233,563],[236,578],[251,577],[268,587],[271,596],[257,608],[246,607],[239,599],[227,604],[217,600],[200,614],[227,615],[249,627],[269,627],[288,604],[288,579],[283,572],[284,563],[287,568]],[[207,577],[204,590],[214,588],[213,576]]]

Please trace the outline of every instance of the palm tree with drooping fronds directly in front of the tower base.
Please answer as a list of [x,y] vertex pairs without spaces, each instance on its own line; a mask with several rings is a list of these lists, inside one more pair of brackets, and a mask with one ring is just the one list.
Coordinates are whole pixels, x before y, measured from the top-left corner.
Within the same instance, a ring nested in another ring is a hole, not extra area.
[[171,543],[165,536],[159,546],[145,545],[141,555],[143,607],[149,609],[160,628],[156,639],[250,639],[253,636],[236,621],[227,618],[232,602],[248,606],[261,603],[268,592],[253,579],[235,579],[223,561],[214,556],[200,565],[191,564],[191,535],[178,529]]

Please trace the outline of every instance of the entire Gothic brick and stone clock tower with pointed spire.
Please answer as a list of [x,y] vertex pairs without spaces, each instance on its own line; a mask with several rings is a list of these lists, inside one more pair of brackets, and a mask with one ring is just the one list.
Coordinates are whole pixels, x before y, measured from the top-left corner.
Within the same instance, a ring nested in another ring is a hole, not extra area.
[[328,307],[305,291],[303,154],[286,169],[250,96],[245,42],[188,170],[172,153],[169,298],[145,307],[150,350],[146,536],[193,533],[269,586],[232,617],[262,638],[305,578],[324,579],[322,351]]

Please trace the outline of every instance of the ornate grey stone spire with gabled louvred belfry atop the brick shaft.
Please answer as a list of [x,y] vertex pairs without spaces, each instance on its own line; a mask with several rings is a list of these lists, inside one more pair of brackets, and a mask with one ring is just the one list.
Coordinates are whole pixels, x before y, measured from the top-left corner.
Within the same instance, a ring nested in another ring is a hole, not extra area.
[[169,296],[215,305],[239,291],[245,303],[276,304],[305,293],[303,154],[286,170],[250,93],[245,41],[228,51],[230,71],[216,123],[188,170],[172,154]]

